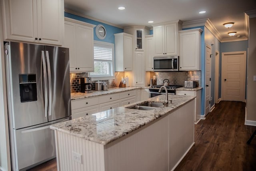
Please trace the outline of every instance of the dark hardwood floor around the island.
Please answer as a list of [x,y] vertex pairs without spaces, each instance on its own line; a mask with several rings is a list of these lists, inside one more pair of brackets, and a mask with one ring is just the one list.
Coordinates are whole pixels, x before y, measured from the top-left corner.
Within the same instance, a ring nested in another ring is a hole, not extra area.
[[[244,125],[245,103],[220,101],[195,125],[195,145],[175,171],[256,171],[256,127]],[[185,135],[184,135],[185,136]],[[56,171],[56,159],[29,171]]]

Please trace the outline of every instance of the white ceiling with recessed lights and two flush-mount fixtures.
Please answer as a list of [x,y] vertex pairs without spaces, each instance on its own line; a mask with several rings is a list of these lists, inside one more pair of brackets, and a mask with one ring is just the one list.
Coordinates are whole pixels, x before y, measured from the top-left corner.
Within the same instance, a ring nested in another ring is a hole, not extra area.
[[[208,18],[222,39],[228,32],[237,32],[234,38],[247,38],[244,12],[256,9],[256,0],[64,0],[65,9],[93,17],[123,28],[148,26],[182,20],[182,22]],[[126,7],[118,10],[119,6]],[[201,10],[206,13],[199,14]],[[223,26],[234,22],[232,28]]]

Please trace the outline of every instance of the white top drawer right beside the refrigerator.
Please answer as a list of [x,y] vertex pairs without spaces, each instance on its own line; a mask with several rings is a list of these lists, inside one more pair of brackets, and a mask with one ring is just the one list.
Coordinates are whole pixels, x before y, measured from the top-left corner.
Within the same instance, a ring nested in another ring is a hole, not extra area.
[[71,109],[80,109],[84,107],[90,107],[99,104],[99,97],[86,98],[81,100],[72,100]]

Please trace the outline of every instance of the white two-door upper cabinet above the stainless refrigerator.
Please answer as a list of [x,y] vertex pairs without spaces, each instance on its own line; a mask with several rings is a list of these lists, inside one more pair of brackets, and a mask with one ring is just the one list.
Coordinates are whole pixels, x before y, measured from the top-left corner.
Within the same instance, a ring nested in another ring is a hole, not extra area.
[[4,38],[62,45],[64,0],[4,0]]

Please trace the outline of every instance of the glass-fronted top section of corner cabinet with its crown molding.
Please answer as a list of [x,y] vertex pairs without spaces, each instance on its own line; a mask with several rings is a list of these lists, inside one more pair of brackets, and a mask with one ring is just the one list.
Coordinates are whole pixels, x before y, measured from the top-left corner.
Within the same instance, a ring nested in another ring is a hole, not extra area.
[[149,34],[149,28],[146,26],[128,26],[124,28],[124,32],[134,35],[134,50],[144,51],[145,35]]

